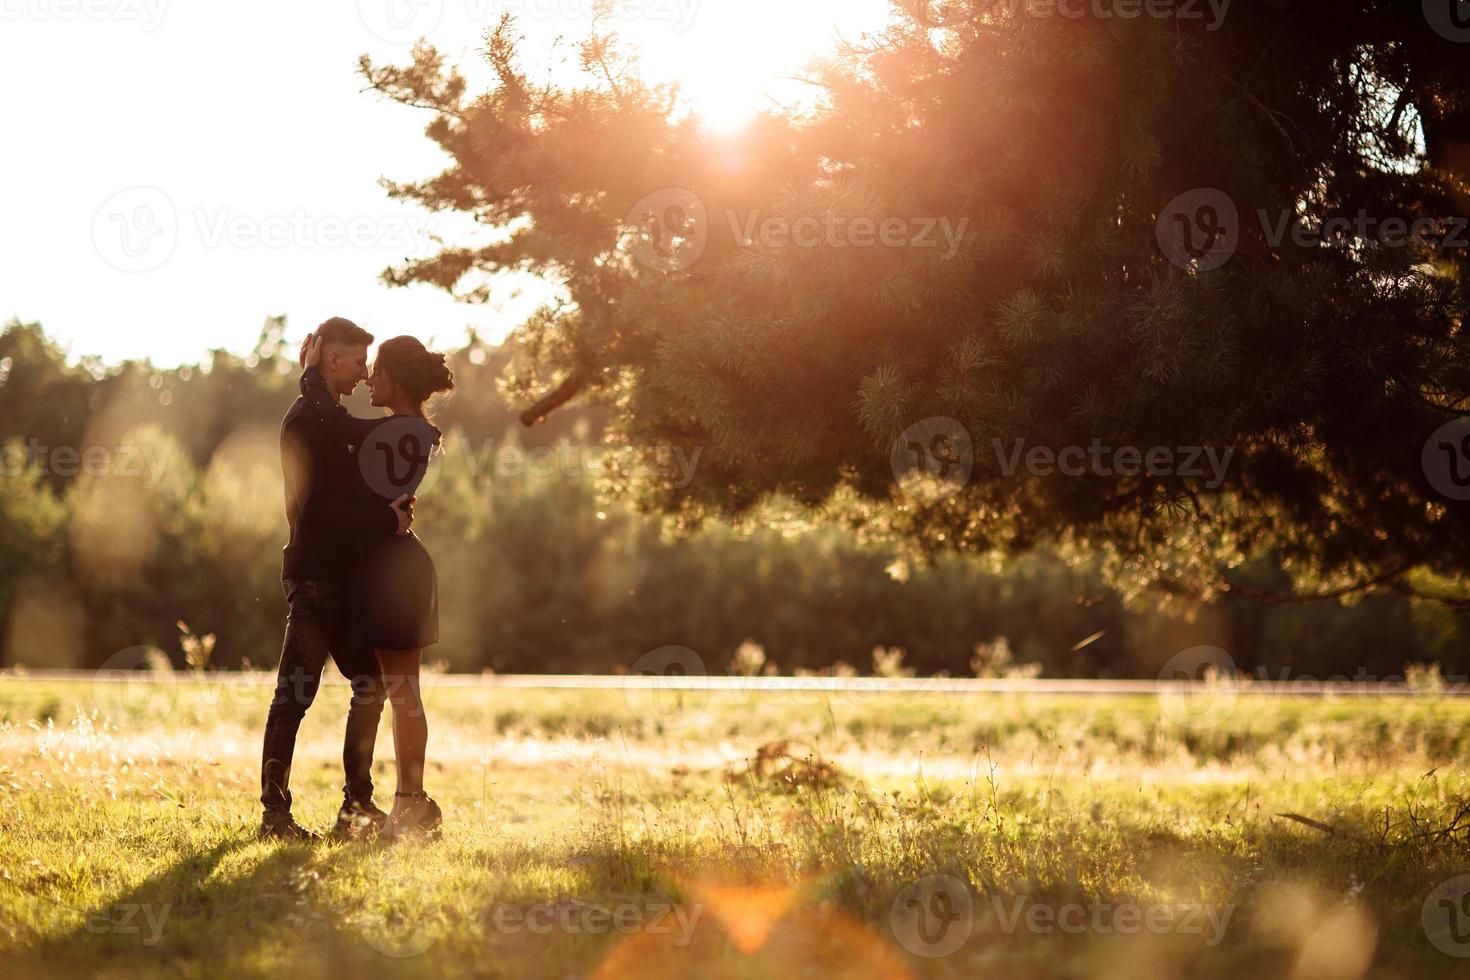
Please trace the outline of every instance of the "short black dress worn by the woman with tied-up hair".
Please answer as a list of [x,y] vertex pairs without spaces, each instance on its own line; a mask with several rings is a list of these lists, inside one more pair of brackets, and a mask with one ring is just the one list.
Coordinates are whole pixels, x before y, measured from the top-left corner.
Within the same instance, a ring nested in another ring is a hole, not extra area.
[[[357,419],[337,404],[316,367],[301,375],[301,398],[329,438],[351,453],[365,494],[379,502],[412,497],[423,482],[440,430],[419,416]],[[347,629],[373,649],[416,649],[440,641],[438,574],[417,535],[356,542]]]

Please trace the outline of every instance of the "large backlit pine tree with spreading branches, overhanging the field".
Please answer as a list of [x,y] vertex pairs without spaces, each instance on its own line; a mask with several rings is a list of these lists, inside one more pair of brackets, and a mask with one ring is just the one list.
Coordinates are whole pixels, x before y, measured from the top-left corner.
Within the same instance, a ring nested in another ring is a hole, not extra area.
[[1229,589],[1263,551],[1324,594],[1464,573],[1424,458],[1470,403],[1467,250],[1389,220],[1470,212],[1467,47],[1389,0],[1113,13],[903,0],[811,69],[817,104],[738,138],[613,37],[557,87],[506,19],[473,96],[431,47],[365,57],[451,159],[390,194],[485,229],[385,278],[563,284],[507,385],[528,423],[595,400],[635,455],[703,453],[692,483],[629,476],[651,505],[1050,539],[1135,591]]

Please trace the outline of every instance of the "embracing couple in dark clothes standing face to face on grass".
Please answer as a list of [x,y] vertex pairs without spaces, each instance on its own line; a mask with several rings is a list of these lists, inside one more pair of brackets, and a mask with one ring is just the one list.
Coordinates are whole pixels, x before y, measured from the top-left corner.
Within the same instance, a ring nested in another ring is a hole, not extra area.
[[[442,354],[412,336],[378,348],[341,317],[301,344],[301,397],[281,423],[291,538],[281,583],[290,611],[260,764],[263,837],[313,840],[291,815],[291,757],[331,657],[351,682],[335,837],[438,836],[440,807],[423,792],[429,726],[419,693],[423,648],[438,642],[434,560],[412,532],[413,501],[440,445],[423,406],[451,391]],[[357,382],[388,414],[357,419],[338,401]],[[372,755],[384,702],[392,705],[398,788],[392,813],[373,804]]]

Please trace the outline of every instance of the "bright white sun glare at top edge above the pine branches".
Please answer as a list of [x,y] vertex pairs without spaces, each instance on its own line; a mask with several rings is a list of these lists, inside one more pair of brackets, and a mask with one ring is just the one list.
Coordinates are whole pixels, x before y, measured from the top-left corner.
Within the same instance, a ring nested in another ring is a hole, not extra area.
[[810,97],[794,75],[838,38],[888,19],[888,0],[637,0],[616,29],[639,48],[650,81],[673,79],[716,131],[772,104]]

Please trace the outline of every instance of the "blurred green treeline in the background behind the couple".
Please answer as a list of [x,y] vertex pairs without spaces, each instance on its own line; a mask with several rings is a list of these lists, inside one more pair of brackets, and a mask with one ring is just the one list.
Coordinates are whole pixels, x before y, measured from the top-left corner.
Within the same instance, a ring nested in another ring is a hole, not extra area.
[[[0,335],[0,664],[131,664],[151,648],[184,666],[204,635],[215,667],[275,663],[276,433],[295,394],[284,332],[270,320],[251,354],[171,370],[68,363],[37,325]],[[1088,563],[910,566],[782,520],[779,501],[748,525],[673,533],[598,494],[600,413],[519,426],[495,388],[504,361],[473,339],[454,353],[460,389],[438,413],[451,435],[420,491],[441,582],[432,655],[454,670],[617,671],[678,645],[725,673],[742,645],[748,667],[750,644],[785,673],[867,671],[879,649],[889,669],[903,651],[906,669],[963,676],[1004,670],[1008,649],[1047,676],[1155,676],[1205,644],[1273,679],[1470,669],[1466,619],[1401,597],[1136,611]],[[1285,576],[1263,558],[1242,580],[1280,591]]]

